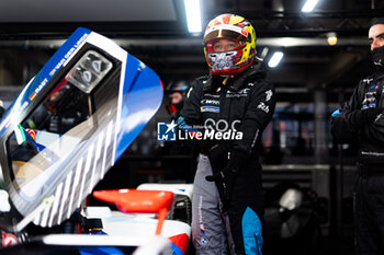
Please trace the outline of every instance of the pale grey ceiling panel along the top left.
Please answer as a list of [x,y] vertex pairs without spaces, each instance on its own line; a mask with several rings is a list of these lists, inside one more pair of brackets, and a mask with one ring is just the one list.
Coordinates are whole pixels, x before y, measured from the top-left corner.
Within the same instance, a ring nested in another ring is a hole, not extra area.
[[172,0],[2,0],[0,7],[0,22],[4,23],[177,20]]

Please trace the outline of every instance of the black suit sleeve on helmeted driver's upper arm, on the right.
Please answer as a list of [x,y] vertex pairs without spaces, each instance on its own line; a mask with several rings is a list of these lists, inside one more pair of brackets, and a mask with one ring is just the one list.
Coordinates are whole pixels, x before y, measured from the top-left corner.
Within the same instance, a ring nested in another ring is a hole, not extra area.
[[267,81],[257,81],[252,88],[250,101],[241,123],[237,127],[242,139],[233,141],[233,151],[250,154],[262,135],[262,130],[272,119],[276,101],[274,88]]

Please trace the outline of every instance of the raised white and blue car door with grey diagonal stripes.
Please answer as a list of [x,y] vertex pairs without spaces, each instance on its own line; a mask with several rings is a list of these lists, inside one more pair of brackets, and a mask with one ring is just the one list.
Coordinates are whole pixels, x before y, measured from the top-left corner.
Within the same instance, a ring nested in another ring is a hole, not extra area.
[[[78,28],[0,124],[0,164],[16,211],[11,224],[33,218],[37,225],[53,227],[68,219],[161,101],[162,84],[153,70],[111,39]],[[54,139],[36,147],[29,138],[33,131]],[[49,197],[53,202],[36,212]]]

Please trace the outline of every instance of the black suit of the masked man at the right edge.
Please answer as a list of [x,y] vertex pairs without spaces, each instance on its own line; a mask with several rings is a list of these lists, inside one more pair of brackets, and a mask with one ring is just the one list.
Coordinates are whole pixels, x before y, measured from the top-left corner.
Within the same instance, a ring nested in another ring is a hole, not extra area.
[[359,141],[354,186],[359,254],[384,254],[384,73],[361,80],[349,102],[331,117],[340,143]]

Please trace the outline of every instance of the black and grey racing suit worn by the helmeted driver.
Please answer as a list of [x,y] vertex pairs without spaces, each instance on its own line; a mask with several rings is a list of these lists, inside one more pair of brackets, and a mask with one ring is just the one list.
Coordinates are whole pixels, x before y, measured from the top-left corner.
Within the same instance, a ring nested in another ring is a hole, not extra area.
[[[226,254],[226,241],[231,254],[261,254],[263,190],[258,144],[272,118],[275,97],[259,66],[230,78],[225,85],[222,77],[196,79],[181,112],[181,120],[189,126],[242,132],[238,139],[227,134],[228,139],[200,141],[192,201],[192,239],[197,254]],[[231,161],[235,158],[237,161]],[[239,169],[223,175],[223,184],[210,183],[206,176],[223,174],[229,162]]]

